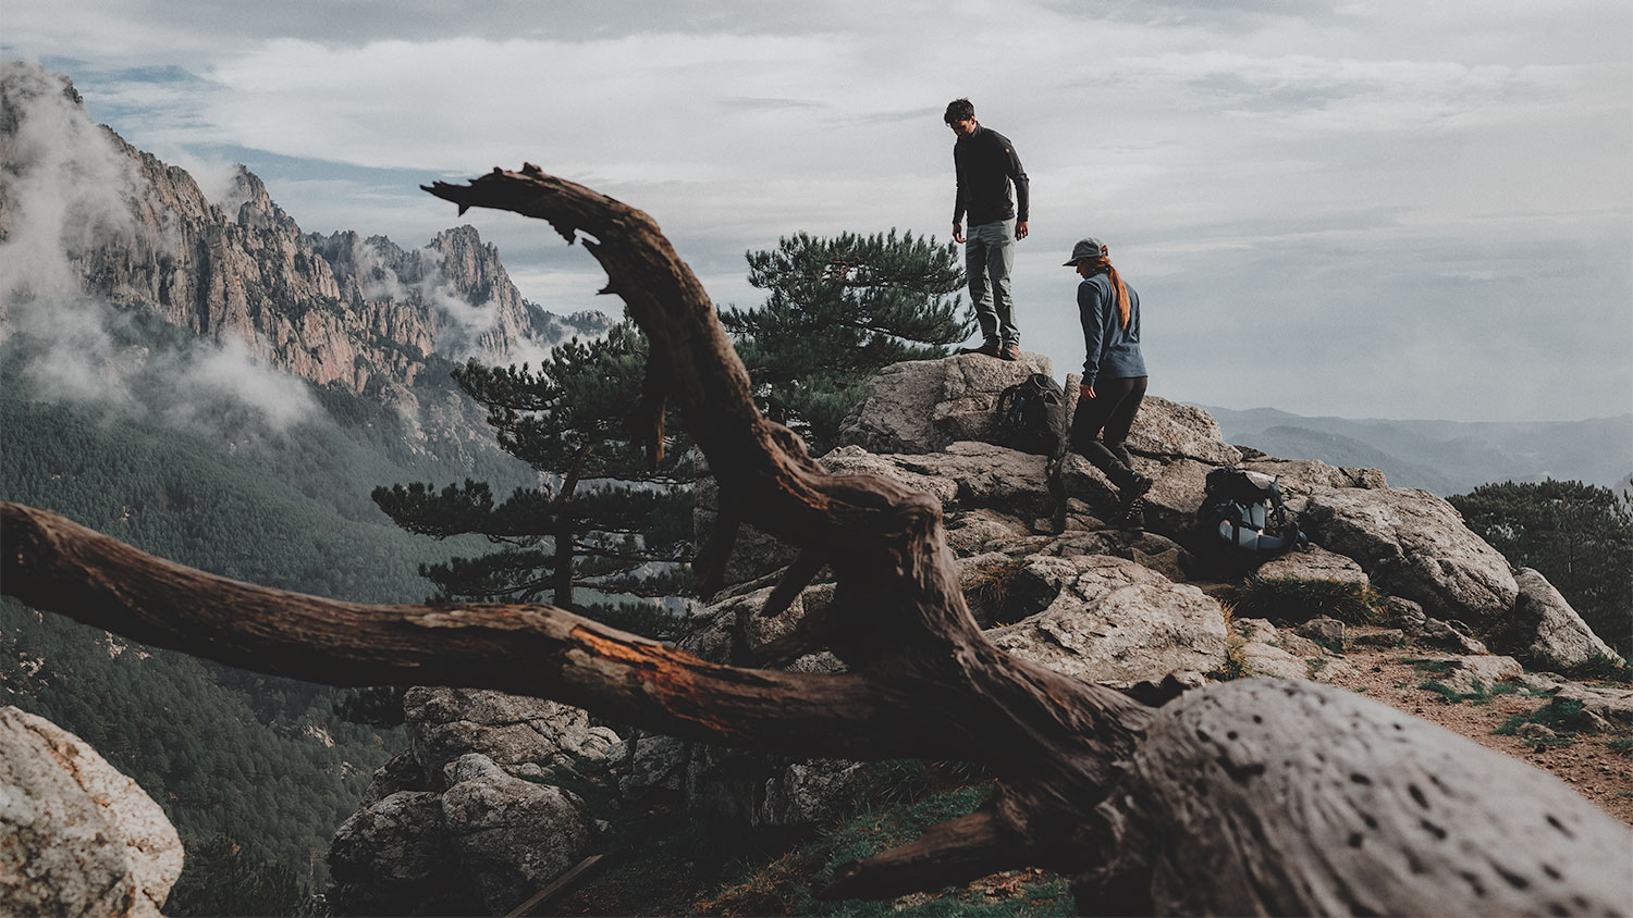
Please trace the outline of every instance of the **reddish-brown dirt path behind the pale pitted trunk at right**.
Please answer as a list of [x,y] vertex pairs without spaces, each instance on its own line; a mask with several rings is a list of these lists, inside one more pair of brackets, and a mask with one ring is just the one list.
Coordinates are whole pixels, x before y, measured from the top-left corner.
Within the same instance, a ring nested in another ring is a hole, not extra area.
[[1514,693],[1491,695],[1476,701],[1450,701],[1434,690],[1419,688],[1434,675],[1421,672],[1409,660],[1432,655],[1435,654],[1422,654],[1413,647],[1350,649],[1344,659],[1355,667],[1355,672],[1336,677],[1333,685],[1364,691],[1368,698],[1434,721],[1486,748],[1551,771],[1610,815],[1633,825],[1633,750],[1617,750],[1609,745],[1618,734],[1563,734],[1563,739],[1571,742],[1560,747],[1517,735],[1496,735],[1491,730],[1511,716],[1532,714],[1546,704],[1548,698]]

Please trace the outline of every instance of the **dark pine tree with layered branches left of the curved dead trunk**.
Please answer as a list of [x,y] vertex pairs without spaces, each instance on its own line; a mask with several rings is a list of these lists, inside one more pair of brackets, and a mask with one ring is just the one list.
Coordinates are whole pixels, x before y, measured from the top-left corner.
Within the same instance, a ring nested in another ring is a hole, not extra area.
[[[557,346],[537,370],[472,360],[454,380],[488,411],[500,447],[547,484],[495,501],[467,479],[376,488],[374,502],[408,532],[480,535],[496,546],[477,558],[425,564],[436,600],[575,602],[575,587],[663,597],[684,590],[691,556],[689,442],[642,452],[629,419],[640,403],[647,341],[621,323],[598,341]],[[665,430],[679,426],[666,422]]]

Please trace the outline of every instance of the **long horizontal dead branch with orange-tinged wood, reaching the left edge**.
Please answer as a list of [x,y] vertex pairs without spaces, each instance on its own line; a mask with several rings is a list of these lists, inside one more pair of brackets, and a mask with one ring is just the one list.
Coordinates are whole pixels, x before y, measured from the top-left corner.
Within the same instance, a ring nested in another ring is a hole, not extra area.
[[0,504],[0,546],[5,594],[34,608],[266,673],[498,688],[795,755],[897,757],[936,742],[914,735],[924,730],[911,709],[888,704],[865,675],[723,667],[549,605],[364,605],[274,590],[20,504]]

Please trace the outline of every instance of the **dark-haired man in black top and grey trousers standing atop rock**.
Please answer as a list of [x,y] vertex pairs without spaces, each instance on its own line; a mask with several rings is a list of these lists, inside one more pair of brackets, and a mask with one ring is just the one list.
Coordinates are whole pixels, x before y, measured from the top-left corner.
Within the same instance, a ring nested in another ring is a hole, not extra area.
[[[1026,170],[1008,137],[977,124],[970,99],[949,103],[942,119],[959,135],[952,145],[952,166],[959,183],[952,205],[952,241],[965,243],[970,302],[985,339],[980,347],[965,347],[962,352],[1019,360],[1021,329],[1016,328],[1014,302],[1009,298],[1009,269],[1016,261],[1016,240],[1027,235]],[[1009,197],[1011,184],[1014,199]],[[965,214],[970,217],[968,240],[963,235]]]

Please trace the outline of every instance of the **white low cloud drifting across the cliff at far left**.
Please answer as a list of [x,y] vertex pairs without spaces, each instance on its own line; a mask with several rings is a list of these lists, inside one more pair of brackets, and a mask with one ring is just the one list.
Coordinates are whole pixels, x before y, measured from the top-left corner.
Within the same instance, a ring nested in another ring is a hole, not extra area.
[[207,429],[224,406],[281,430],[317,409],[305,386],[240,341],[157,344],[85,292],[93,253],[127,243],[137,174],[103,129],[39,67],[0,65],[8,134],[0,173],[0,349],[29,395]]

